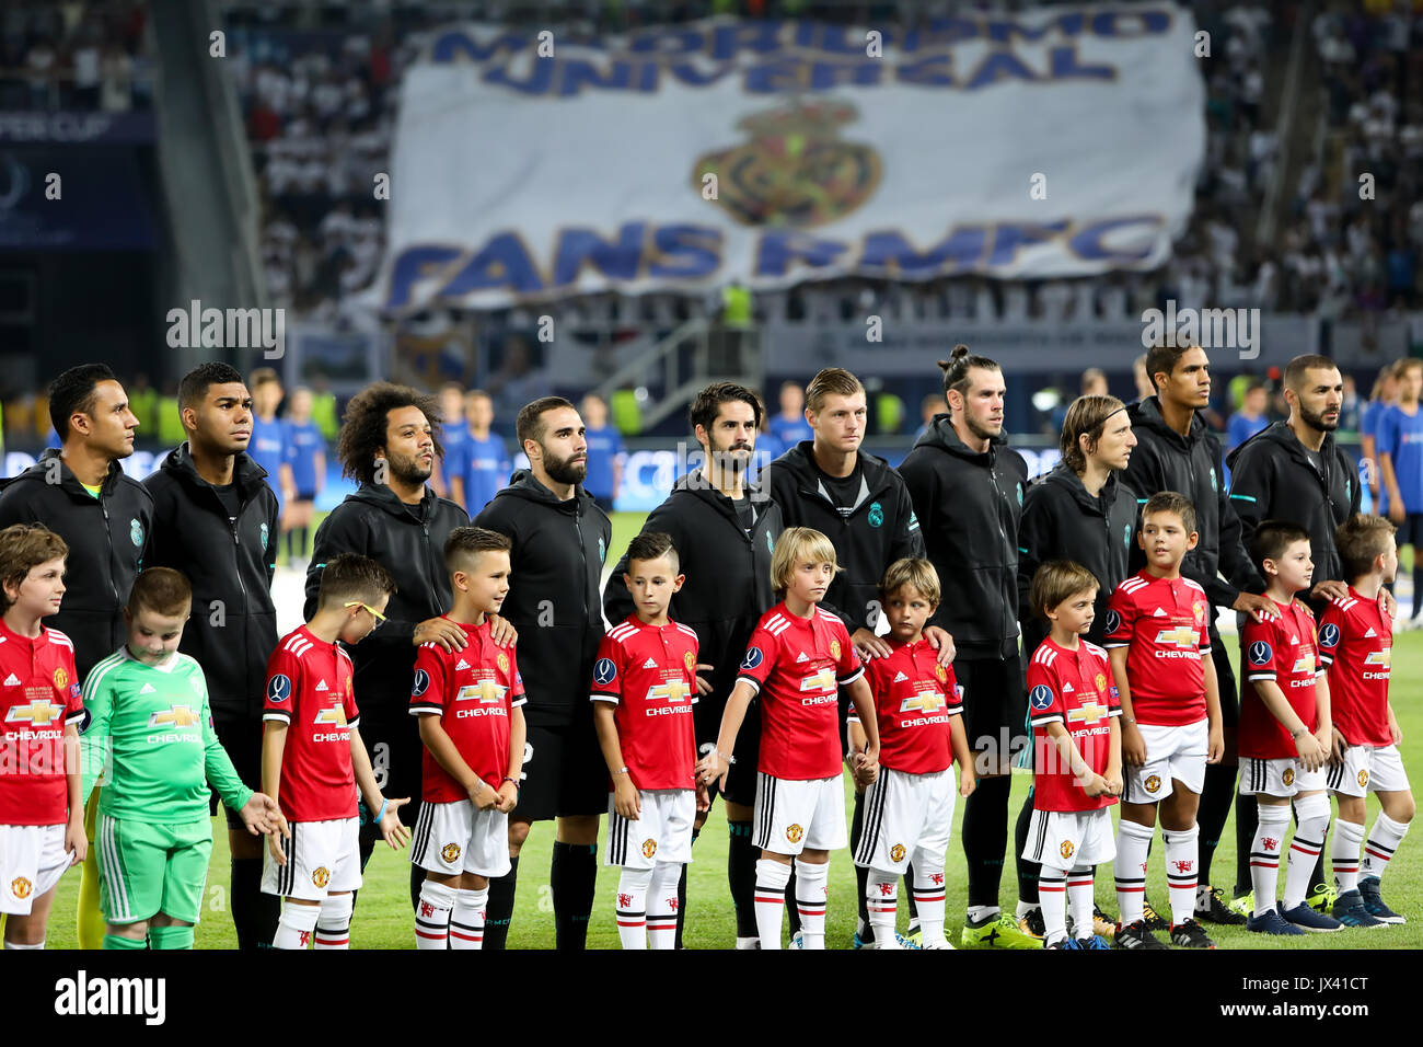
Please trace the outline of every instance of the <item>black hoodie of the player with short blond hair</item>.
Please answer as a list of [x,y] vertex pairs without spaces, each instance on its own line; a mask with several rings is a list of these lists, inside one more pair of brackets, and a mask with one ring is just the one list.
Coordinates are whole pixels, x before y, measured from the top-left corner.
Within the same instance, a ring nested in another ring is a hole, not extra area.
[[767,467],[771,499],[787,527],[814,527],[840,554],[844,570],[830,583],[821,607],[838,614],[851,634],[872,631],[885,568],[902,557],[924,556],[914,501],[888,462],[859,452],[859,499],[842,517],[821,483],[814,447],[814,442],[801,440]]

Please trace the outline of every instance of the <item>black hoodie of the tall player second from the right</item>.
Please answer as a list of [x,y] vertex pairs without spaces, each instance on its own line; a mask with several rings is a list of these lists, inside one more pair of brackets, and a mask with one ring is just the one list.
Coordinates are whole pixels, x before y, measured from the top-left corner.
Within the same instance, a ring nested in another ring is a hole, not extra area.
[[[1241,591],[1264,593],[1265,583],[1241,543],[1241,520],[1225,493],[1221,443],[1201,416],[1191,416],[1188,436],[1165,423],[1155,396],[1128,406],[1127,416],[1137,446],[1121,479],[1137,493],[1137,504],[1146,504],[1158,491],[1178,491],[1195,506],[1200,538],[1185,554],[1181,574],[1204,588],[1215,607],[1231,607]],[[1133,546],[1131,570],[1144,564],[1146,553]]]

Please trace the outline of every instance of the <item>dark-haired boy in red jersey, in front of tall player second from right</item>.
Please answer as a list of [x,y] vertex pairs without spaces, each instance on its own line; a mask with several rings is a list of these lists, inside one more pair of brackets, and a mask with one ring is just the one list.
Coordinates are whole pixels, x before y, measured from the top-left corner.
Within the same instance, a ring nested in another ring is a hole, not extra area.
[[1111,594],[1104,647],[1121,701],[1126,792],[1117,825],[1118,949],[1165,949],[1147,929],[1143,906],[1147,855],[1161,808],[1165,879],[1171,889],[1171,943],[1214,949],[1195,922],[1195,812],[1205,765],[1218,764],[1221,701],[1211,654],[1205,590],[1181,577],[1195,548],[1195,506],[1177,491],[1141,507],[1137,541],[1147,566]]

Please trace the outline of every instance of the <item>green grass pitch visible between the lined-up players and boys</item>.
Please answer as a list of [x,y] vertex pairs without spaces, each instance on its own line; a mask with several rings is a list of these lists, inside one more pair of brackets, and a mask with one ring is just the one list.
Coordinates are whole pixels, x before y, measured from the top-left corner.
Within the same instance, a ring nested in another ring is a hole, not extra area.
[[[642,520],[640,514],[615,514],[612,547],[608,556],[609,566],[616,563],[622,550],[628,547],[628,541],[640,528]],[[1227,644],[1231,648],[1231,661],[1238,662],[1238,644],[1231,637],[1227,638]],[[1423,709],[1420,709],[1416,701],[1420,689],[1423,689],[1423,632],[1402,632],[1397,635],[1395,644],[1393,707],[1403,728],[1403,759],[1409,771],[1409,778],[1413,782],[1423,782]],[[1023,772],[1013,776],[1010,818],[1016,819],[1029,783],[1030,778]],[[850,799],[851,793],[847,789],[847,805]],[[962,808],[961,802],[956,822],[962,821]],[[1376,813],[1377,803],[1370,801],[1369,825],[1373,823]],[[1211,936],[1215,937],[1222,949],[1423,947],[1423,856],[1420,856],[1420,852],[1423,852],[1423,839],[1419,839],[1419,832],[1414,830],[1403,842],[1399,856],[1389,866],[1389,872],[1385,876],[1385,897],[1396,910],[1407,916],[1409,923],[1406,926],[1375,932],[1345,930],[1338,934],[1311,934],[1303,939],[1271,939],[1268,942],[1248,934],[1244,927],[1211,927]],[[226,902],[228,846],[226,830],[221,816],[213,822],[213,838],[215,846],[208,877],[208,905],[203,910],[202,923],[198,926],[198,947],[232,949],[236,944],[236,937],[232,930],[232,917]],[[524,856],[519,863],[518,903],[509,932],[511,949],[554,947],[554,907],[548,886],[552,842],[554,826],[551,822],[545,822],[534,826],[534,832],[524,846]],[[719,803],[713,808],[707,828],[697,840],[694,850],[696,860],[690,868],[686,926],[686,946],[689,949],[726,949],[734,940],[736,924],[731,897],[726,883],[726,816]],[[1012,849],[1012,845],[1009,849]],[[1165,873],[1161,868],[1160,853],[1161,846],[1158,843],[1153,849],[1154,860],[1148,879],[1148,896],[1158,905],[1165,906]],[[599,845],[599,862],[602,862],[602,845]],[[406,852],[397,853],[384,845],[377,848],[376,856],[366,869],[366,886],[360,893],[360,902],[351,924],[353,947],[414,947],[408,902],[408,869]],[[1217,886],[1225,886],[1228,890],[1235,875],[1234,821],[1225,828],[1212,872]],[[966,895],[963,850],[958,836],[958,825],[955,825],[955,835],[949,843],[948,882],[949,927],[951,934],[956,934]],[[48,929],[48,947],[51,949],[73,949],[75,944],[74,902],[78,893],[78,883],[80,877],[77,872],[67,873],[60,883]],[[613,893],[616,883],[616,869],[606,866],[599,869],[598,900],[588,932],[588,944],[593,949],[618,947],[618,930],[613,924]],[[1281,873],[1281,886],[1284,886],[1284,873]],[[1110,869],[1101,869],[1097,875],[1097,899],[1103,909],[1109,913],[1116,913]],[[1005,909],[1012,912],[1016,900],[1012,855],[1007,856],[1005,863],[1000,900]],[[905,913],[901,912],[901,927],[905,919]],[[848,852],[838,852],[831,858],[830,866],[827,946],[831,949],[848,947],[854,923],[854,869]]]

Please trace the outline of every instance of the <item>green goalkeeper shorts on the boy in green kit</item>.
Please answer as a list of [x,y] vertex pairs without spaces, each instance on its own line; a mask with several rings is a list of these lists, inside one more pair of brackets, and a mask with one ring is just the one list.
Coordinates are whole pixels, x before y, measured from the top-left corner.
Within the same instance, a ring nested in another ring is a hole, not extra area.
[[212,856],[212,822],[149,825],[100,815],[98,905],[110,923],[135,923],[158,913],[196,923]]

